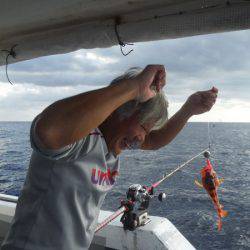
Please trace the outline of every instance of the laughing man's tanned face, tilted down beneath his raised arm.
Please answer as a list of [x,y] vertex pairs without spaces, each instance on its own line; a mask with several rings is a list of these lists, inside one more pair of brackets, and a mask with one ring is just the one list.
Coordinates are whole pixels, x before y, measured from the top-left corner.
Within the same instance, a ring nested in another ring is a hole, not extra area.
[[140,124],[136,115],[119,121],[110,141],[111,150],[118,155],[125,149],[139,149],[153,126],[154,123]]

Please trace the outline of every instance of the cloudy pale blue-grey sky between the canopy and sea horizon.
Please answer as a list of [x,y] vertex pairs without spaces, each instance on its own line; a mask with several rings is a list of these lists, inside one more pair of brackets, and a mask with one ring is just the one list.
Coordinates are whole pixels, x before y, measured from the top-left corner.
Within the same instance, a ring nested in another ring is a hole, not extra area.
[[78,50],[0,67],[0,121],[31,121],[56,100],[107,86],[130,67],[163,64],[172,116],[196,91],[219,89],[213,109],[190,121],[250,122],[250,30]]

